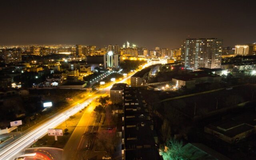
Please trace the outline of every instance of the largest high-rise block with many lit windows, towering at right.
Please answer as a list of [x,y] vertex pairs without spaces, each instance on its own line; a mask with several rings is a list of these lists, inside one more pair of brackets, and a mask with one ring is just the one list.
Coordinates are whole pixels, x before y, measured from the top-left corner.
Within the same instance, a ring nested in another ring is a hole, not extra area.
[[190,69],[220,68],[222,40],[217,38],[186,39],[181,48],[181,62]]

